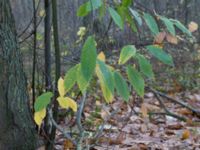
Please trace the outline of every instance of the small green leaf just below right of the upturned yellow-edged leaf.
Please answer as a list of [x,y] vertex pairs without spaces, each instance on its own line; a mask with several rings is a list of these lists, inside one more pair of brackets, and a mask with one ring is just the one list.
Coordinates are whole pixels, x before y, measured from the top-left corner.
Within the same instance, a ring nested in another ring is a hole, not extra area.
[[153,78],[154,73],[150,62],[143,55],[137,55],[137,59],[139,61],[140,71],[144,73],[145,76]]

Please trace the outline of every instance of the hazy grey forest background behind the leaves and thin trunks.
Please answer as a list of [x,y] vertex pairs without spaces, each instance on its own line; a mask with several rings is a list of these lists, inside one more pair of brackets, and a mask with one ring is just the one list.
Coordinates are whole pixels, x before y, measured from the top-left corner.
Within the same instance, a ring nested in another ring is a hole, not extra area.
[[[39,1],[40,2],[40,1]],[[96,33],[100,37],[104,34],[104,30],[109,23],[109,18],[105,18],[104,22],[98,22],[95,20],[95,17],[89,16],[86,18],[79,18],[76,16],[76,11],[78,7],[84,2],[84,0],[59,0],[58,1],[58,29],[59,29],[59,39],[60,39],[60,47],[62,53],[62,64],[63,70],[66,70],[66,65],[70,66],[74,63],[77,63],[80,57],[81,47],[76,45],[76,41],[78,40],[77,35],[75,34],[80,26],[91,26],[95,24],[96,26],[90,31],[91,33]],[[174,18],[180,20],[184,25],[188,25],[191,21],[196,22],[197,24],[200,22],[200,17],[198,13],[198,6],[200,1],[198,0],[141,0],[135,1],[136,8],[142,8],[143,10],[153,11],[155,10],[158,14],[167,16],[169,18]],[[13,0],[11,2],[13,13],[15,16],[17,32],[20,34],[30,23],[33,16],[33,7],[32,7],[32,0]],[[141,5],[140,5],[141,4]],[[40,2],[40,9],[38,11],[38,22],[41,22],[38,31],[39,35],[38,38],[44,34],[43,28],[43,21],[44,21],[44,9],[43,1]],[[145,27],[144,27],[145,28]],[[33,27],[30,27],[25,34],[20,36],[20,39],[23,40],[26,38],[33,30]],[[130,28],[125,27],[124,31],[119,31],[117,27],[112,24],[112,27],[109,30],[109,38],[110,41],[103,43],[103,49],[109,49],[109,46],[113,49],[119,49],[125,44],[134,43],[138,47],[142,47],[143,45],[150,44],[153,39],[151,38],[148,30],[143,30],[143,28],[139,29],[140,34],[137,35],[133,32],[130,32]],[[148,35],[149,34],[149,35]],[[147,35],[147,36],[146,36]],[[165,78],[163,76],[162,79],[164,80],[171,80],[166,81],[167,83],[173,82],[174,80],[178,80],[177,82],[183,85],[183,88],[195,88],[199,87],[199,79],[196,78],[199,73],[199,60],[195,59],[195,56],[199,53],[199,31],[194,33],[196,40],[187,42],[179,42],[178,45],[169,45],[170,50],[168,50],[176,59],[176,69],[173,71],[166,71],[168,69],[166,66],[161,66],[158,68],[156,66],[156,70],[160,73],[164,73]],[[38,64],[41,64],[40,61],[44,60],[41,59],[43,57],[43,38],[38,39],[38,56],[37,60],[39,61]],[[30,48],[28,46],[31,45],[30,42],[26,40],[21,44],[21,47],[24,50],[24,61],[26,59],[30,60],[32,54],[30,53]],[[184,44],[185,46],[183,46]],[[110,50],[111,51],[111,50]],[[109,51],[107,51],[109,53]],[[41,54],[41,55],[40,55]],[[28,63],[25,63],[28,64]],[[42,63],[44,64],[44,63]],[[27,73],[31,73],[31,67],[25,65]],[[39,73],[44,72],[44,67],[41,65],[38,66]],[[43,71],[42,71],[43,70]],[[160,75],[158,75],[159,77]],[[178,77],[178,78],[177,78]],[[176,78],[176,79],[175,79]],[[159,80],[158,80],[159,81]]]

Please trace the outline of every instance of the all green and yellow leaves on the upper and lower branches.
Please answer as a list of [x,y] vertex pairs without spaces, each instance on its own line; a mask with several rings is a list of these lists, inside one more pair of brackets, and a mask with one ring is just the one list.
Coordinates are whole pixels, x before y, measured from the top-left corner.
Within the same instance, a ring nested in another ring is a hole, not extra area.
[[[160,33],[156,19],[149,13],[138,13],[136,10],[130,8],[131,4],[132,0],[122,0],[121,3],[115,2],[115,8],[112,8],[103,0],[89,0],[80,6],[77,15],[83,17],[93,10],[100,10],[100,14],[104,14],[105,10],[108,10],[111,18],[120,29],[124,28],[124,23],[127,21],[134,32],[137,31],[134,21],[141,26],[143,23],[142,20],[144,19],[153,36],[156,37]],[[191,36],[191,32],[179,21],[159,15],[156,15],[156,17],[164,23],[167,32],[172,36],[176,36],[175,27],[188,36]],[[124,46],[118,61],[119,65],[126,64],[130,59],[138,61],[139,67],[135,67],[134,65],[126,66],[128,79],[125,79],[120,71],[106,64],[103,52],[97,55],[96,45],[94,37],[89,36],[83,45],[80,63],[72,67],[66,73],[64,79],[59,79],[58,91],[60,96],[57,100],[62,108],[72,108],[73,111],[77,111],[76,102],[69,97],[65,97],[65,95],[76,83],[80,91],[84,94],[94,75],[99,79],[100,87],[107,103],[112,102],[115,91],[128,102],[130,89],[128,88],[127,80],[136,93],[143,97],[145,88],[144,77],[154,78],[152,65],[149,60],[144,55],[140,54],[134,45]],[[146,46],[146,49],[151,55],[158,58],[164,64],[174,66],[171,55],[166,53],[161,46],[149,45]],[[39,126],[46,116],[46,107],[50,104],[52,97],[53,93],[47,92],[39,96],[35,102],[34,119]]]

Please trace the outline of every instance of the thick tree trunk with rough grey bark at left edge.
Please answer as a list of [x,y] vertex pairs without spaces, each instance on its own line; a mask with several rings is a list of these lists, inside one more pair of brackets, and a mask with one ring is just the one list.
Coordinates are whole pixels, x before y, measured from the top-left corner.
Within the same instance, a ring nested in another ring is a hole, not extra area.
[[0,149],[34,150],[36,131],[9,0],[0,0]]

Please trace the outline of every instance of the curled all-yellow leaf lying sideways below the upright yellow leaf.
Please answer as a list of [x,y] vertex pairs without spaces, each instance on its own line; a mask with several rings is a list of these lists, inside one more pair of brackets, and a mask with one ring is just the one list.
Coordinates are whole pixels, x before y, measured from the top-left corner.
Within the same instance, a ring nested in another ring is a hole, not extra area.
[[71,108],[74,112],[77,111],[76,102],[69,97],[58,97],[57,101],[62,108]]

